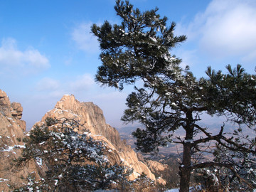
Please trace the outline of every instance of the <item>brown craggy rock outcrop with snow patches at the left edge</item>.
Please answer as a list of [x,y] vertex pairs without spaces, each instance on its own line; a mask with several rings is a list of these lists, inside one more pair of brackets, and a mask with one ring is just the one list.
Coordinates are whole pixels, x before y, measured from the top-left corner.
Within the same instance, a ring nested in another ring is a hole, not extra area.
[[21,186],[23,179],[32,171],[37,171],[31,162],[21,170],[16,169],[13,159],[21,156],[24,147],[22,138],[26,122],[21,120],[22,107],[18,102],[11,104],[6,93],[0,90],[0,191],[9,191],[9,186]]

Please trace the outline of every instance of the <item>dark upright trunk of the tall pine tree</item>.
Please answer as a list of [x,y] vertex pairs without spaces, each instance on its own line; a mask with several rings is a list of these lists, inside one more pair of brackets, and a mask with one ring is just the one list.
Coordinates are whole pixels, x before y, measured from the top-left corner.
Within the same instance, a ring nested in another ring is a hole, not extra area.
[[186,137],[183,143],[183,159],[180,166],[180,192],[189,192],[189,183],[191,179],[191,149],[193,141],[193,117],[192,112],[186,113]]

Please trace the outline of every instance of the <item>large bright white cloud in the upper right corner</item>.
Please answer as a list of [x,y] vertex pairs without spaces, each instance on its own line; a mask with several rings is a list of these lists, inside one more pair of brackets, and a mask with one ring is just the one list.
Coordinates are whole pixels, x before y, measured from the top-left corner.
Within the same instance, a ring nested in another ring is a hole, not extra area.
[[188,26],[179,23],[177,30],[210,56],[255,59],[256,1],[213,0]]

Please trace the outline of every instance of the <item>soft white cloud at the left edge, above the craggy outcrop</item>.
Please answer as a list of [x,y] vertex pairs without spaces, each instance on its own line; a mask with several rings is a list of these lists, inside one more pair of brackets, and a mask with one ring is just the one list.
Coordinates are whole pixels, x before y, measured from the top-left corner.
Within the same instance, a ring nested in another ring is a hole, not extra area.
[[50,67],[46,56],[34,48],[18,50],[14,38],[4,38],[0,47],[0,68],[16,73],[35,73]]

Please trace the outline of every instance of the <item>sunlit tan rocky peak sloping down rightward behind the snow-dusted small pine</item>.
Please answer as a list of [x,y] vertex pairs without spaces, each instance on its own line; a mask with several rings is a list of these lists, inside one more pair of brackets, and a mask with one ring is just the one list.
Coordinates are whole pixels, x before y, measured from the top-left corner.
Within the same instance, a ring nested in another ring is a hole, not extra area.
[[[102,110],[92,102],[79,102],[75,100],[74,95],[64,95],[57,102],[53,110],[48,111],[42,118],[42,122],[46,117],[57,119],[69,118],[83,124],[83,127],[90,131],[90,136],[94,139],[104,141],[110,152],[108,159],[112,164],[123,161],[124,165],[134,169],[131,179],[137,178],[142,172],[149,178],[155,180],[154,174],[142,161],[139,161],[137,154],[122,141],[117,129],[114,129],[110,124],[106,124]],[[85,132],[84,129],[79,129],[78,132]]]

